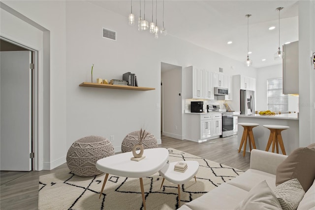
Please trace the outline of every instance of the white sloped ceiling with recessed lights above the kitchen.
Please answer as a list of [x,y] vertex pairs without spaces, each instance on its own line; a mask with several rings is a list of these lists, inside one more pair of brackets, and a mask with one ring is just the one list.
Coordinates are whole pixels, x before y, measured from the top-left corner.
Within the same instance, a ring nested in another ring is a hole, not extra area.
[[[130,0],[90,1],[103,8],[126,16],[130,13]],[[146,0],[146,20],[154,22],[156,0]],[[158,0],[158,25],[162,23],[162,0]],[[281,64],[274,60],[279,45],[298,40],[298,3],[297,0],[165,0],[164,26],[168,35],[187,40],[195,45],[215,51],[229,58],[244,62],[247,59],[247,17],[249,18],[249,51],[255,68]],[[132,9],[137,20],[139,0],[132,1]],[[142,17],[144,0],[141,0]],[[137,24],[135,24],[137,25]],[[268,30],[275,26],[275,30]],[[136,26],[134,26],[136,27]],[[143,32],[148,33],[149,32]],[[227,44],[227,41],[233,41]],[[266,61],[262,61],[266,59]]]

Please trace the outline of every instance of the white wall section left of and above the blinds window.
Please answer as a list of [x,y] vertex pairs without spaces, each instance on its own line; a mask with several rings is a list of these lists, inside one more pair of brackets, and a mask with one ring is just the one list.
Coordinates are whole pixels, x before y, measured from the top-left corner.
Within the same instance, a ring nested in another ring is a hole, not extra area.
[[267,110],[267,79],[282,77],[282,65],[257,69],[256,77],[256,110]]

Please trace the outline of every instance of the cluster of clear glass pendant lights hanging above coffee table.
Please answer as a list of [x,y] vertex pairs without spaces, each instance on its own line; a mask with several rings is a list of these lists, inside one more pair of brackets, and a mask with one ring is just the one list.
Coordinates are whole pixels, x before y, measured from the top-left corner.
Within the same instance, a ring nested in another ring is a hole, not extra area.
[[[141,17],[141,0],[139,0],[140,4],[140,16],[138,18],[138,30],[139,31],[146,31],[149,29],[151,34],[154,34],[155,38],[158,38],[158,34],[162,35],[167,35],[167,31],[164,28],[164,0],[163,0],[163,28],[159,30],[158,28],[158,18],[157,18],[157,13],[158,13],[158,0],[156,0],[156,23],[153,22],[153,0],[152,0],[152,21],[149,24],[148,21],[146,21],[146,0],[144,0],[144,14],[143,14],[143,20]],[[134,14],[132,13],[132,0],[131,0],[131,13],[129,14],[129,25],[133,26],[134,25]]]

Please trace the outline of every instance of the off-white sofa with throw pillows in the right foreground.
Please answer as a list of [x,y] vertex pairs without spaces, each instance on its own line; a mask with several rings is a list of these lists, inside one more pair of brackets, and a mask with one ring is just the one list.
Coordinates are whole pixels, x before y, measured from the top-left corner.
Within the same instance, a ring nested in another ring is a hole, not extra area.
[[[180,210],[233,210],[259,182],[266,180],[271,189],[276,187],[276,170],[286,155],[253,149],[250,169],[244,174],[221,184],[216,189],[184,204]],[[315,181],[305,193],[297,210],[315,210]]]

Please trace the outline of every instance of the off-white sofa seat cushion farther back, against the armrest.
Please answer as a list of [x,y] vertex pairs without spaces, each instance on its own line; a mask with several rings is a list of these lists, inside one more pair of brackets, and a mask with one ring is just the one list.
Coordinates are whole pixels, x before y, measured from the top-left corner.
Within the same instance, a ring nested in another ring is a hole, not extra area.
[[263,180],[266,180],[271,189],[276,187],[276,175],[261,172],[255,169],[249,169],[244,174],[233,178],[227,183],[249,192],[256,184]]

